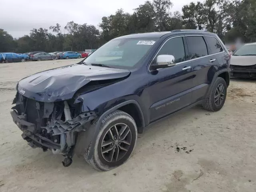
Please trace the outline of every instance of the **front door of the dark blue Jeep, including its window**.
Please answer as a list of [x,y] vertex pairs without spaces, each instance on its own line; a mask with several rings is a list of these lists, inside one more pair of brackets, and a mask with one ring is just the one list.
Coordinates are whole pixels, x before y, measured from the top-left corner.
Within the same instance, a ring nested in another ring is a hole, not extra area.
[[192,88],[195,73],[186,62],[187,47],[183,37],[169,38],[164,42],[158,55],[173,55],[175,66],[158,69],[150,73],[148,95],[150,97],[150,122],[181,110],[192,104]]

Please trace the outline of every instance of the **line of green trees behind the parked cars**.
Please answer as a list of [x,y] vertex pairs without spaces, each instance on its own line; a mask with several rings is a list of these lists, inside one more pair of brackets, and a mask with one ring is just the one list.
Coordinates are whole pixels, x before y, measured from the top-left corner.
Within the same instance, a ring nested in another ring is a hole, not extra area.
[[118,36],[175,29],[208,30],[226,43],[236,38],[256,42],[255,0],[191,2],[182,7],[182,12],[171,12],[172,6],[170,0],[152,0],[139,5],[132,14],[119,9],[102,17],[100,30],[94,25],[70,21],[64,27],[65,33],[57,23],[49,29],[34,28],[29,35],[16,39],[0,29],[0,52],[80,51],[98,48]]

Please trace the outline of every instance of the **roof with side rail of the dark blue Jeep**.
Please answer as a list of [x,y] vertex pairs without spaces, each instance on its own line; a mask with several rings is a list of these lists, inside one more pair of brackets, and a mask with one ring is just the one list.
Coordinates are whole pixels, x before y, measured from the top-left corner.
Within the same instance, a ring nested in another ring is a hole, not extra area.
[[149,32],[149,33],[134,33],[134,34],[130,34],[130,35],[125,35],[125,36],[121,36],[115,39],[126,39],[126,38],[161,38],[162,36],[166,35],[166,34],[187,34],[187,33],[202,33],[204,35],[216,35],[214,33],[208,32],[206,30],[172,30],[172,31],[162,31],[162,32]]

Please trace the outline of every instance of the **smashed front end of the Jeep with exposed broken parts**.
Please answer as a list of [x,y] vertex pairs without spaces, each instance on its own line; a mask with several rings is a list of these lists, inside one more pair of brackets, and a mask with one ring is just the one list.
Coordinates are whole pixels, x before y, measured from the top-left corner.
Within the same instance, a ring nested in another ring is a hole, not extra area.
[[66,156],[64,166],[72,162],[77,133],[91,126],[97,116],[93,111],[81,112],[82,103],[74,104],[74,99],[40,102],[17,92],[12,104],[16,106],[11,115],[23,132],[22,138],[32,148]]

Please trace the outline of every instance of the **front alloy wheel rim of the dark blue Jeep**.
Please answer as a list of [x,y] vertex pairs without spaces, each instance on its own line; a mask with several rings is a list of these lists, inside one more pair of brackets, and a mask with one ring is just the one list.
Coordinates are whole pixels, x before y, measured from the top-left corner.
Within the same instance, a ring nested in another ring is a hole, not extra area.
[[132,142],[132,133],[128,125],[118,123],[106,132],[102,144],[101,154],[107,162],[117,162],[128,152]]

